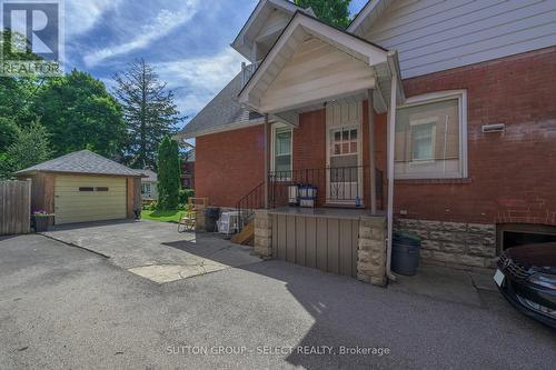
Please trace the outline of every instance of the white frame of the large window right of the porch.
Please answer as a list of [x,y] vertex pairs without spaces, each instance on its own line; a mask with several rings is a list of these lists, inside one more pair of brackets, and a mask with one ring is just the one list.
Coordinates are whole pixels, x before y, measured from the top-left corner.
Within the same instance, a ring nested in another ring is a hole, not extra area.
[[[465,179],[468,177],[468,158],[467,158],[467,90],[449,90],[425,93],[406,99],[404,104],[397,109],[404,109],[416,106],[425,106],[446,100],[458,100],[459,112],[459,173],[430,172],[430,173],[395,173],[395,179],[398,180],[426,180],[426,179]],[[413,161],[410,163],[418,166],[427,161]]]

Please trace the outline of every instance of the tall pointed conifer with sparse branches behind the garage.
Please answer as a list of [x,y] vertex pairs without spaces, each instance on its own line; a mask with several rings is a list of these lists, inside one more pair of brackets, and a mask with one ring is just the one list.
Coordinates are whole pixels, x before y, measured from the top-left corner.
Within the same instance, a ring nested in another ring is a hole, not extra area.
[[173,92],[142,59],[113,79],[115,94],[123,108],[129,132],[126,162],[135,168],[156,168],[158,144],[165,136],[173,133],[182,120]]

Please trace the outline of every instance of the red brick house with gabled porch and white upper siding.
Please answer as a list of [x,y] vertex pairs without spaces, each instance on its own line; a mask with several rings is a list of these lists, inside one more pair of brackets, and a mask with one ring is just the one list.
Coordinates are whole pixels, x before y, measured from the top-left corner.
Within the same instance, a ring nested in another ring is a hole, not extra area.
[[[196,194],[268,208],[259,251],[363,280],[393,229],[426,262],[492,268],[556,236],[554,24],[555,1],[376,0],[344,31],[261,0],[231,43],[251,64],[179,133]],[[290,183],[319,209],[281,207]]]

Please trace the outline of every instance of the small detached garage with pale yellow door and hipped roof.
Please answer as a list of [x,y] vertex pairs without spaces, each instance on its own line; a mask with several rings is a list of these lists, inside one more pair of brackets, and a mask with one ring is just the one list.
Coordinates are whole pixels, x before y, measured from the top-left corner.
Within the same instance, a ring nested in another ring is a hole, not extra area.
[[31,181],[31,208],[54,223],[132,219],[141,209],[142,173],[89,150],[16,172]]

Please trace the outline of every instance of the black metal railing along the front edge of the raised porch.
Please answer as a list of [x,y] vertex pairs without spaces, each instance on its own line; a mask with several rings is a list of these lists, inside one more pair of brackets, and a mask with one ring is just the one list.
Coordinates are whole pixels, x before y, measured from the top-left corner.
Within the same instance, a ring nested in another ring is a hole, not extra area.
[[[295,169],[269,173],[269,207],[291,204],[291,186],[317,189],[315,207],[369,207],[370,169],[366,166]],[[383,171],[376,170],[377,204],[383,203]]]

